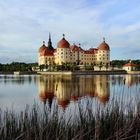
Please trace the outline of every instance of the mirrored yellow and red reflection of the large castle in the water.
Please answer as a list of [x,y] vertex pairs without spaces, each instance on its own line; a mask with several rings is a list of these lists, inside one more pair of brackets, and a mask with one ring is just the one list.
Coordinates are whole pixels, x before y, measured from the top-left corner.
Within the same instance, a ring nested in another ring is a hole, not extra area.
[[106,103],[110,96],[109,76],[40,76],[38,78],[39,98],[49,102],[54,98],[57,104],[65,109],[71,101],[76,102],[82,97],[98,98]]

